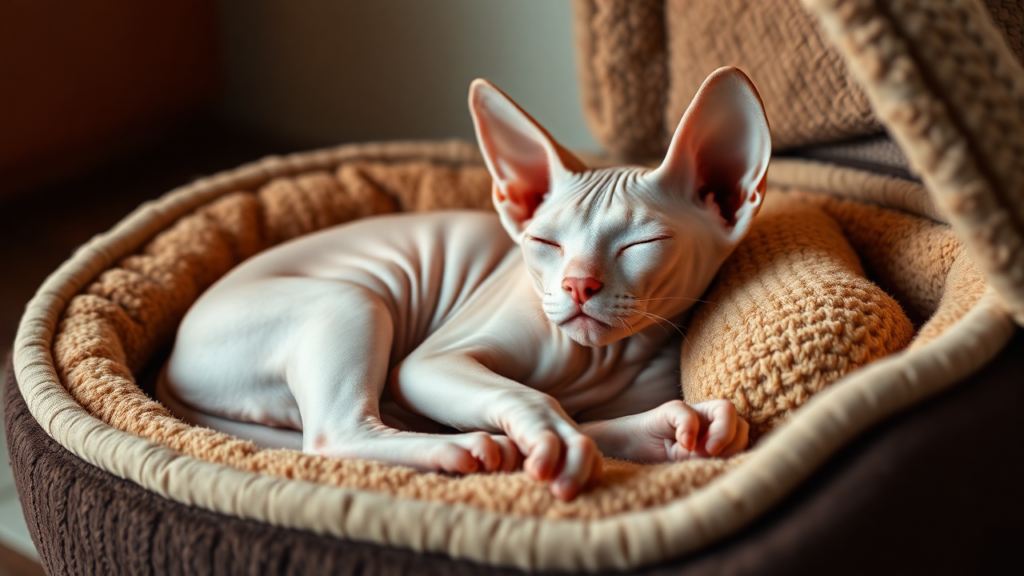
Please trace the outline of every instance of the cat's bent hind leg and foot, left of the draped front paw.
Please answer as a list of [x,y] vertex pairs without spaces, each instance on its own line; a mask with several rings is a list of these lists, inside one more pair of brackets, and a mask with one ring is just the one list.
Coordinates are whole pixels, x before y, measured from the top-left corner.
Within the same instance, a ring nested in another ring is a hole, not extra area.
[[361,458],[456,474],[514,469],[519,452],[485,433],[402,431],[381,419],[394,321],[385,301],[338,281],[315,290],[286,367],[302,418],[304,452]]

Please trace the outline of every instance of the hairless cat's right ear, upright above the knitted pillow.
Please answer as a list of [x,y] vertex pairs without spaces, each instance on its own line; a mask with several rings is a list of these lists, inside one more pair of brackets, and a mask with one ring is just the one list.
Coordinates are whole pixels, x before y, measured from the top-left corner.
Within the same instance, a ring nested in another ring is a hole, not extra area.
[[738,242],[764,200],[770,157],[761,96],[739,69],[725,67],[697,90],[651,177],[703,206]]

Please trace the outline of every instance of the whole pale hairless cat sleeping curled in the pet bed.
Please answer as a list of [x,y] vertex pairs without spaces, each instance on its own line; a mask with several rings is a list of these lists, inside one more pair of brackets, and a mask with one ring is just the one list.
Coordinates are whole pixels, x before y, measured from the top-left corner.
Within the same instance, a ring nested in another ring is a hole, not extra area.
[[497,215],[366,218],[257,255],[188,312],[164,385],[213,422],[302,430],[306,452],[522,464],[562,498],[602,452],[742,450],[731,404],[679,400],[671,321],[764,197],[768,127],[746,77],[709,78],[655,170],[588,170],[483,81],[470,108]]

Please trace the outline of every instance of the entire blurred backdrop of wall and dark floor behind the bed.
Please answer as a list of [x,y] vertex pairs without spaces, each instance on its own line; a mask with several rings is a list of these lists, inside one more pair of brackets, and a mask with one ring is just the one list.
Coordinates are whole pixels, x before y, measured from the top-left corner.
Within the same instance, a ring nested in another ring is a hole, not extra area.
[[[568,0],[0,2],[0,349],[46,275],[141,202],[267,154],[472,139],[477,77],[597,151]],[[34,559],[4,452],[0,576]]]

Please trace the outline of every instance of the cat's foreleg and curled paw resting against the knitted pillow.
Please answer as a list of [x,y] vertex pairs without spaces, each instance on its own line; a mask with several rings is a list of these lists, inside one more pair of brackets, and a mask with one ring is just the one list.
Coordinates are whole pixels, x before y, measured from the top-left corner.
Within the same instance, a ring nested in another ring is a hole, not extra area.
[[726,400],[693,405],[673,400],[647,412],[595,422],[585,430],[609,456],[678,462],[740,452],[746,448],[750,424]]

